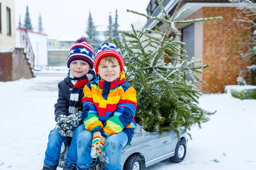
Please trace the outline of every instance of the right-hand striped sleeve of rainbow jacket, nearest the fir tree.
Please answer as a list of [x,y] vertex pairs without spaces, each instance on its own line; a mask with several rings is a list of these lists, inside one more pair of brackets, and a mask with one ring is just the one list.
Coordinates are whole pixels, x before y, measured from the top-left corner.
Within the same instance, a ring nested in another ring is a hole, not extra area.
[[102,136],[108,138],[115,133],[121,132],[126,126],[131,125],[136,109],[136,91],[133,87],[130,87],[122,94],[114,115],[107,120]]

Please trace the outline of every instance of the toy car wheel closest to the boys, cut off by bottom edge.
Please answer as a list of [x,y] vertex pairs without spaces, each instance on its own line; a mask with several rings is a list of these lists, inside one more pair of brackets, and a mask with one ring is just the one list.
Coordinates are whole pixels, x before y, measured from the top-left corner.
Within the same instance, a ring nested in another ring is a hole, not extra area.
[[125,161],[123,170],[142,170],[140,156],[134,155]]

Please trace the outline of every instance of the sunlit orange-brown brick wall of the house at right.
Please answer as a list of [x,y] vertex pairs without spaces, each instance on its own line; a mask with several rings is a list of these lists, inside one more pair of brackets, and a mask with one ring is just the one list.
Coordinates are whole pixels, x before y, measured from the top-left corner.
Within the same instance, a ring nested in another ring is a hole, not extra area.
[[236,85],[239,71],[250,65],[249,61],[241,61],[239,55],[249,47],[239,51],[234,48],[249,37],[244,36],[241,39],[236,36],[245,31],[233,21],[237,17],[236,8],[204,7],[203,13],[204,17],[223,17],[223,20],[204,22],[203,63],[209,63],[210,67],[204,69],[203,93],[223,93],[224,85]]

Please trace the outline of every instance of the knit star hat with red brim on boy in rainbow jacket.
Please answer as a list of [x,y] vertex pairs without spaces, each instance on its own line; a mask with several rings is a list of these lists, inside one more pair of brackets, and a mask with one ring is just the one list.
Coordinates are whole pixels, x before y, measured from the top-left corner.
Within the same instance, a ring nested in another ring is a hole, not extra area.
[[116,57],[116,59],[119,62],[120,65],[120,70],[121,72],[123,71],[124,68],[124,59],[122,58],[122,54],[120,49],[111,43],[104,42],[102,45],[100,45],[97,48],[96,51],[96,57],[94,59],[94,69],[96,74],[98,73],[98,67],[99,67],[99,62],[102,58],[108,57],[108,56],[113,56]]

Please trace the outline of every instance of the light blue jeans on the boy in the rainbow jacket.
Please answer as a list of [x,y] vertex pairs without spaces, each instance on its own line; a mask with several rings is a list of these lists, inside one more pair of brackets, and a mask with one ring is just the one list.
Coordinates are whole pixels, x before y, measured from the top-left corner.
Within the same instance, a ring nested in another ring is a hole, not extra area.
[[[90,156],[93,135],[84,130],[77,139],[77,170],[87,170],[93,167],[93,158]],[[105,170],[122,170],[121,151],[128,142],[124,132],[116,133],[108,137],[105,142]]]

